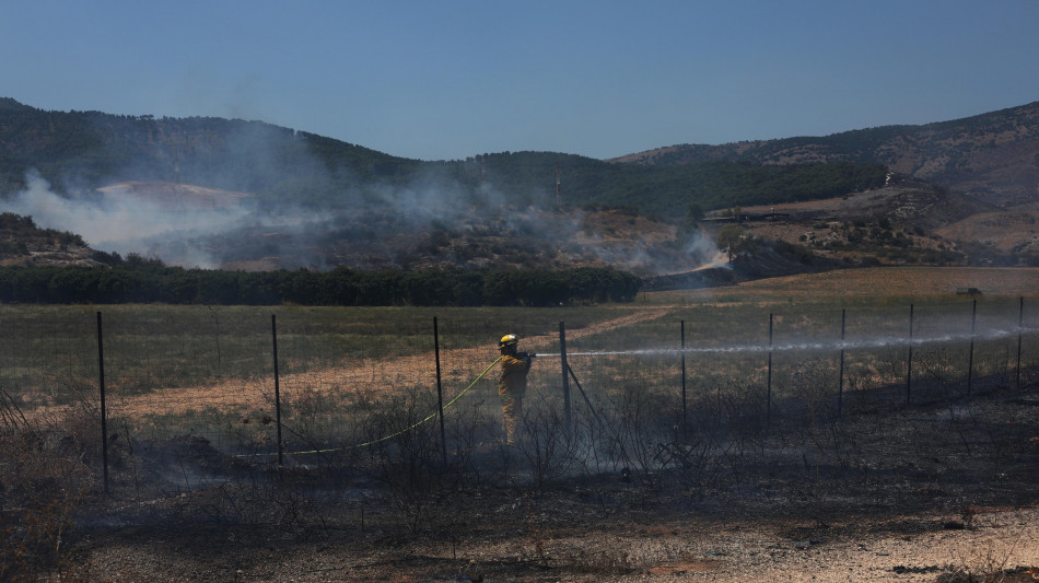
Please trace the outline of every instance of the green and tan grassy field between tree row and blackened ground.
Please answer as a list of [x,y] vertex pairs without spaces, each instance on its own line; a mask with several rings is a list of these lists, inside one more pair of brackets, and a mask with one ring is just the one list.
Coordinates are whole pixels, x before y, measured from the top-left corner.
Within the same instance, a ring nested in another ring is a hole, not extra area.
[[[794,410],[829,413],[838,392],[853,398],[888,387],[888,401],[900,401],[901,390],[909,399],[910,349],[913,381],[932,398],[964,394],[968,376],[979,388],[1016,381],[1017,298],[979,300],[971,337],[970,299],[935,293],[911,302],[886,296],[869,302],[816,293],[804,302],[784,301],[792,289],[768,301],[751,288],[717,292],[728,293],[727,302],[698,291],[670,305],[654,296],[631,305],[559,308],[105,306],[100,311],[109,416],[154,439],[198,434],[233,451],[269,450],[276,428],[272,315],[283,439],[303,450],[349,443],[365,419],[404,393],[435,395],[434,317],[445,400],[497,358],[500,336],[515,333],[523,348],[542,354],[530,375],[532,395],[559,403],[558,335],[565,323],[574,409],[622,421],[633,404],[652,403],[650,409],[640,405],[640,423],[657,423],[662,435],[686,421],[684,406],[688,415],[688,407],[709,395],[721,398],[722,392],[735,392],[726,403],[740,400],[754,409],[764,410],[770,398],[798,401]],[[912,346],[910,303],[918,341]],[[28,415],[96,395],[97,312],[0,310],[0,326],[13,339],[0,347],[0,386]],[[1039,323],[1035,301],[1025,302],[1023,319],[1026,328]],[[1023,354],[1026,368],[1036,365],[1035,334],[1025,335]],[[495,418],[494,374],[458,404],[459,415],[467,409],[480,419]]]

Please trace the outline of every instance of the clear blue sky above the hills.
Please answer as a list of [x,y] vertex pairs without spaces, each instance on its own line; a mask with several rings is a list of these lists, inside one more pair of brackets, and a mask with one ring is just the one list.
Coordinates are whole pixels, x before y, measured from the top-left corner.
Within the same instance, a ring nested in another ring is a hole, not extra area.
[[1039,0],[0,0],[0,96],[602,159],[1039,101]]

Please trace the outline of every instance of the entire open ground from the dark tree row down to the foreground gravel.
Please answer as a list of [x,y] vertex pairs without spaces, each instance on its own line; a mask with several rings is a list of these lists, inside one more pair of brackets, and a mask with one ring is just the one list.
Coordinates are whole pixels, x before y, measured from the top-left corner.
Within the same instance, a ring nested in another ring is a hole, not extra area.
[[[0,325],[0,579],[1039,567],[1039,270],[847,270],[537,310],[21,305]],[[497,370],[476,381],[505,333],[540,354],[515,446]]]

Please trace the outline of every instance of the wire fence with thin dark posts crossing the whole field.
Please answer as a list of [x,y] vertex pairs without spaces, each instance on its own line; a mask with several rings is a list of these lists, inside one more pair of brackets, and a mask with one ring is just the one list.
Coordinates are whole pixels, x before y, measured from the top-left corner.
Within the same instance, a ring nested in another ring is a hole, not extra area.
[[[586,467],[651,467],[662,444],[708,430],[767,432],[1034,386],[1037,326],[1039,308],[1024,298],[850,307],[4,306],[0,421],[57,428],[97,454],[106,487],[110,464],[191,444],[243,464],[320,465],[400,450],[407,439],[466,463],[503,446],[492,364],[497,339],[515,333],[538,354],[524,399],[528,438],[544,445],[546,434],[568,435],[576,445],[567,455]],[[179,471],[185,487],[206,482],[175,466],[166,471]]]

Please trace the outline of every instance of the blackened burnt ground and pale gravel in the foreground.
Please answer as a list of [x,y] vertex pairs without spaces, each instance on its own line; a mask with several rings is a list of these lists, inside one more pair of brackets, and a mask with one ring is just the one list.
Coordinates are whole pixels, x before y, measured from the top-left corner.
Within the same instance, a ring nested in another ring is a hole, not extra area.
[[[164,469],[130,471],[145,455],[140,447],[119,458],[112,495],[79,509],[61,559],[40,579],[1039,576],[1036,387],[865,406],[769,431],[701,429],[658,446],[652,471],[538,473],[530,450],[499,445],[460,462],[452,454],[446,470],[412,460],[395,473],[273,471],[229,464],[205,440],[176,445]],[[198,477],[190,490],[164,485],[178,473],[219,479]]]

